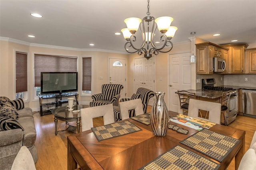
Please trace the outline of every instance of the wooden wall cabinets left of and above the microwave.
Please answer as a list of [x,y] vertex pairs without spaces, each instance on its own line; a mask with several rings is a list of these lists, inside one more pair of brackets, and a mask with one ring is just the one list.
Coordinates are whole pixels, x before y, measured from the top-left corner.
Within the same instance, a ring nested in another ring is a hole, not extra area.
[[213,73],[213,57],[223,58],[224,53],[228,49],[220,45],[206,42],[196,44],[196,73],[197,74],[212,74]]

